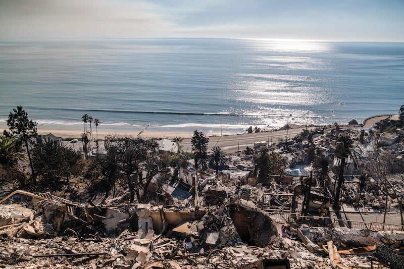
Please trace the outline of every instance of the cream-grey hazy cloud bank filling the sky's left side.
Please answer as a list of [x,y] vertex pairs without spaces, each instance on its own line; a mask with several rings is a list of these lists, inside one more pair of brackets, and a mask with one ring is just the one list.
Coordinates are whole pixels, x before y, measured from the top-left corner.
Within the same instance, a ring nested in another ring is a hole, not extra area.
[[143,36],[173,24],[154,4],[133,1],[6,0],[0,4],[0,35],[21,38]]

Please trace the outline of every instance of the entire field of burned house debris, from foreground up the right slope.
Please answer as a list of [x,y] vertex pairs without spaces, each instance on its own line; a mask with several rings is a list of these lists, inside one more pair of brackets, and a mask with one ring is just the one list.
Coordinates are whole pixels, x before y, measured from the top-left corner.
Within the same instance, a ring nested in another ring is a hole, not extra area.
[[402,268],[404,148],[379,139],[331,126],[236,152],[218,174],[145,175],[147,202],[11,192],[0,267]]

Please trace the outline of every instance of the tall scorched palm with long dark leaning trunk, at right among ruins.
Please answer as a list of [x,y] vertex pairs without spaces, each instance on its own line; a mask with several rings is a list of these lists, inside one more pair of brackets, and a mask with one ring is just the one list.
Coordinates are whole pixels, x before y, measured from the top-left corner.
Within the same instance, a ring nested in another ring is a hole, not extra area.
[[339,144],[335,149],[335,153],[339,159],[340,165],[338,173],[337,191],[335,193],[335,199],[333,205],[334,210],[340,209],[339,194],[341,192],[341,187],[344,182],[343,174],[345,170],[346,159],[350,158],[352,160],[352,163],[354,163],[355,168],[357,168],[359,159],[362,157],[361,149],[358,146],[354,145],[354,140],[352,140],[349,134],[341,134],[338,140]]

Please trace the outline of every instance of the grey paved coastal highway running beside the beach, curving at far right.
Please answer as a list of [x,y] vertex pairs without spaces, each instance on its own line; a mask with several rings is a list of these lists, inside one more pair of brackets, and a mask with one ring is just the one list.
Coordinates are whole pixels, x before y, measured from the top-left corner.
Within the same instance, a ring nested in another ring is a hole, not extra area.
[[[364,127],[357,127],[352,129],[368,129],[374,123],[379,122],[381,120],[387,119],[390,115],[378,115],[371,118],[368,118],[365,122]],[[398,115],[394,115],[393,117],[398,118]],[[310,127],[309,127],[310,128]],[[311,127],[314,129],[314,127]],[[304,129],[302,128],[293,128],[287,130],[288,139],[295,137],[297,134],[301,133]],[[276,143],[279,139],[286,139],[286,130],[274,131],[274,132],[260,132],[260,133],[252,133],[252,134],[237,134],[237,135],[223,135],[223,136],[210,136],[208,143],[208,150],[210,150],[214,146],[220,146],[227,153],[234,153],[237,150],[244,150],[245,147],[253,147],[254,142],[257,141],[267,141],[269,143]],[[182,146],[182,150],[186,152],[191,151],[191,138],[184,138],[184,140],[180,143]]]

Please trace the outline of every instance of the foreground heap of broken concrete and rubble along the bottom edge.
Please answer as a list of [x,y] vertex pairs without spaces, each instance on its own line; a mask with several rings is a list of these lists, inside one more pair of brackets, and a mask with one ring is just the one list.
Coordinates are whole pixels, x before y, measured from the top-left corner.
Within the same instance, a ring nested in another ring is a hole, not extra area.
[[[26,268],[260,268],[287,261],[296,269],[330,268],[324,250],[328,241],[349,249],[360,240],[362,246],[376,238],[376,243],[396,247],[404,239],[399,232],[282,225],[254,202],[231,196],[227,203],[199,208],[72,207],[52,199],[33,199],[35,210],[0,204],[0,263]],[[341,264],[371,268],[367,255],[352,253],[341,254]]]

